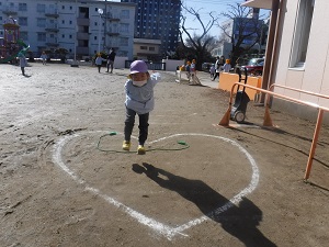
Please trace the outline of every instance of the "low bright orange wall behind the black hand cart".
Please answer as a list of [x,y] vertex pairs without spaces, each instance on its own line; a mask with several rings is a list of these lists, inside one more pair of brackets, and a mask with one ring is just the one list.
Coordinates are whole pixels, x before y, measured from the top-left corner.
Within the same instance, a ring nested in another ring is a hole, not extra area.
[[[230,91],[231,87],[235,82],[239,82],[239,76],[237,74],[230,74],[230,72],[220,72],[219,75],[219,82],[218,82],[218,89]],[[245,82],[243,80],[241,81]],[[248,77],[247,78],[247,85],[261,88],[262,83],[262,77]],[[240,90],[243,88],[240,87]],[[237,90],[237,87],[235,88]],[[259,91],[256,91],[253,89],[246,88],[246,93],[250,98],[250,100],[254,100],[254,97]]]

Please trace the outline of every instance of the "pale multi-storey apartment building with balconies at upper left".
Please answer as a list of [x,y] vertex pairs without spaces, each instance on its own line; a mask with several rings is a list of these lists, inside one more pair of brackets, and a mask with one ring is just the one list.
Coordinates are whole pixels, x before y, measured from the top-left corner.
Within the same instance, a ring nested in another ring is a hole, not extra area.
[[132,59],[135,9],[103,0],[1,0],[0,23],[15,19],[35,56],[65,48],[68,58],[84,58],[112,47]]

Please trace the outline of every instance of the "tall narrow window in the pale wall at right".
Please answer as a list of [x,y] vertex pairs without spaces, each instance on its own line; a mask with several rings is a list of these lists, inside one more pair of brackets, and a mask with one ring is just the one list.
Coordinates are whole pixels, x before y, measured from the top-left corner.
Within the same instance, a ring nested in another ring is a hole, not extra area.
[[315,0],[299,0],[295,25],[291,67],[304,67]]

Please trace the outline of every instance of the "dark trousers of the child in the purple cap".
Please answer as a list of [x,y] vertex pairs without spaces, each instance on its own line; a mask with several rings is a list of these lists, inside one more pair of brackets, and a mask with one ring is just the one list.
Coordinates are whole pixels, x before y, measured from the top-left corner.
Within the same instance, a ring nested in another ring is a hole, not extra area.
[[[131,142],[131,136],[133,133],[133,128],[135,125],[135,116],[136,116],[136,112],[132,109],[126,108],[126,120],[125,120],[125,141]],[[147,135],[148,135],[148,117],[149,117],[149,113],[145,113],[145,114],[138,114],[138,119],[139,119],[139,136],[138,136],[138,144],[139,145],[144,145],[146,139],[147,139]]]

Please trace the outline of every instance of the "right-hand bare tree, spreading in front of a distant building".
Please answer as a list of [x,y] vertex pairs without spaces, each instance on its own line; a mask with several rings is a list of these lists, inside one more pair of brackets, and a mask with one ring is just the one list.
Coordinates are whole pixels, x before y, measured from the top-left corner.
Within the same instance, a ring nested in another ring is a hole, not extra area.
[[227,12],[222,13],[227,19],[226,22],[218,24],[224,34],[224,40],[232,44],[230,58],[232,64],[241,56],[242,53],[248,52],[257,43],[261,44],[261,34],[263,21],[259,16],[250,16],[249,7],[241,7],[228,4],[230,8]]

